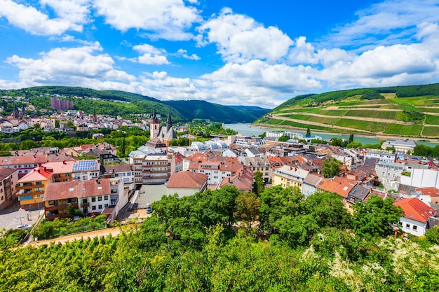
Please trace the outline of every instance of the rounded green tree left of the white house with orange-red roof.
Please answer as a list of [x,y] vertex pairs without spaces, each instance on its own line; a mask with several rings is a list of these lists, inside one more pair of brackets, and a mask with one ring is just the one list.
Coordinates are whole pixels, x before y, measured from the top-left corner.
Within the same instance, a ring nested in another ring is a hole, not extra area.
[[399,229],[404,211],[393,202],[391,197],[383,200],[378,195],[371,195],[366,202],[356,203],[353,206],[353,228],[357,234],[372,239],[392,235],[393,228]]

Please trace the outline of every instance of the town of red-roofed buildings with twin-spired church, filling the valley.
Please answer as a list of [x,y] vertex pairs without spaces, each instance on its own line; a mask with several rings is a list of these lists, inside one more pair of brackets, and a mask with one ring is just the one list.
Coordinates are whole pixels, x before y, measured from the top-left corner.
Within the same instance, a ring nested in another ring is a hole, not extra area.
[[[98,125],[97,120],[94,115],[89,121]],[[161,125],[154,110],[147,123],[149,141],[126,162],[100,137],[95,137],[96,144],[78,147],[11,151],[13,156],[0,158],[0,209],[17,198],[22,209],[43,209],[49,220],[71,217],[67,208],[74,207],[84,216],[104,214],[112,222],[123,208],[146,208],[140,202],[151,204],[162,195],[182,197],[224,186],[252,192],[259,172],[266,187],[297,186],[305,196],[336,193],[351,214],[356,202],[371,195],[392,197],[405,212],[402,235],[424,235],[439,223],[438,161],[408,155],[417,145],[413,141],[384,142],[382,147],[393,147],[393,153],[311,144],[312,138],[301,134],[266,132],[264,139],[238,134],[170,147],[176,137],[171,115]],[[285,135],[290,139],[279,142]],[[81,154],[95,159],[79,160]],[[325,163],[334,160],[338,171],[324,177]]]

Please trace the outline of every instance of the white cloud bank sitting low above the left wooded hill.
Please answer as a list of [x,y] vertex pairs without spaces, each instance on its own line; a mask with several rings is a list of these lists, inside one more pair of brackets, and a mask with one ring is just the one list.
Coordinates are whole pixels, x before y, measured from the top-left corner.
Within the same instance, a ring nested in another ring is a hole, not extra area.
[[6,62],[20,69],[20,82],[27,84],[90,85],[104,81],[135,81],[135,77],[114,69],[114,61],[101,51],[99,43],[79,48],[54,48],[40,59],[13,55]]

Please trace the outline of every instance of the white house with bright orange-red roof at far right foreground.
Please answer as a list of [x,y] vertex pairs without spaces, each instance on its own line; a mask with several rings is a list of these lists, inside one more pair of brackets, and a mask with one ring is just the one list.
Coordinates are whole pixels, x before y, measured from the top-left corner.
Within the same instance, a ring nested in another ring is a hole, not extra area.
[[436,216],[435,209],[429,207],[417,197],[397,200],[393,204],[401,207],[404,211],[400,223],[405,234],[424,235],[428,229],[428,218]]

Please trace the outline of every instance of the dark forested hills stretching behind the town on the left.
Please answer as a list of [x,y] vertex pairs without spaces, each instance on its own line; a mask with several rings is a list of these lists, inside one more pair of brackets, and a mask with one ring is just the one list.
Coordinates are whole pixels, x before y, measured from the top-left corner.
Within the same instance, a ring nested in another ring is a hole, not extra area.
[[[257,107],[222,106],[204,101],[162,102],[154,97],[138,95],[119,90],[92,90],[89,88],[67,86],[39,86],[20,90],[0,90],[1,96],[24,96],[29,99],[36,109],[50,109],[50,95],[59,95],[60,99],[74,101],[74,109],[84,113],[104,114],[109,116],[121,115],[124,118],[147,113],[156,108],[156,112],[167,116],[168,111],[173,121],[187,122],[194,118],[210,119],[212,122],[223,123],[252,123],[268,112],[268,109]],[[21,106],[20,103],[16,104]]]

